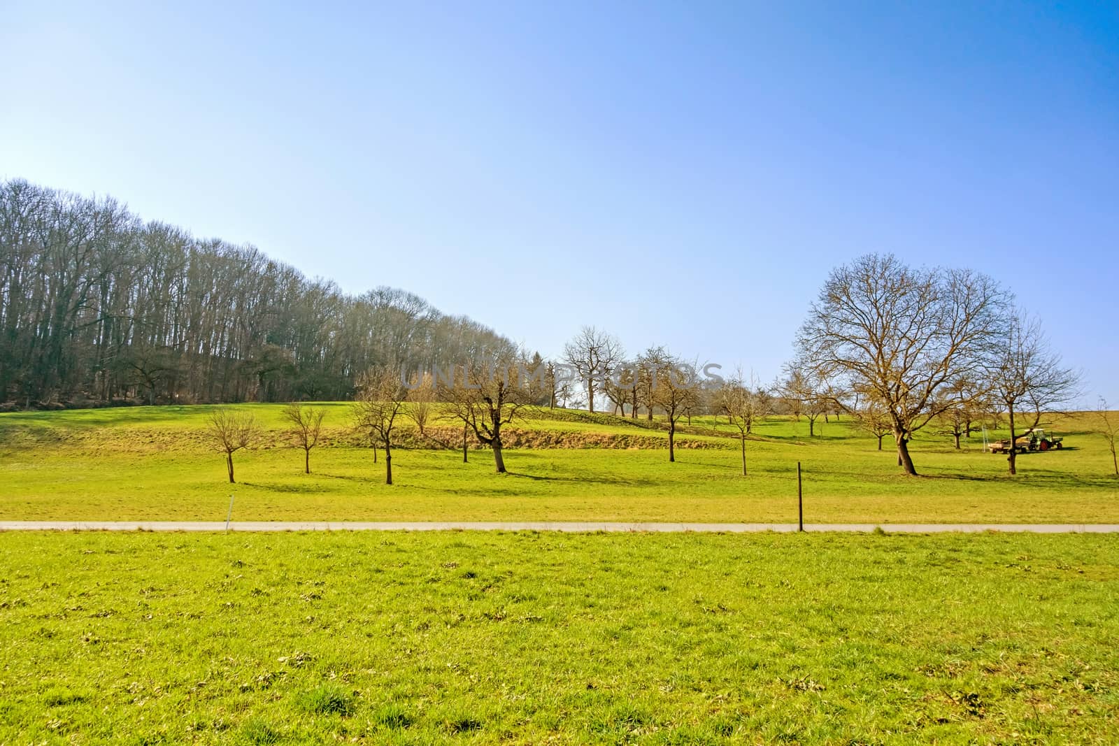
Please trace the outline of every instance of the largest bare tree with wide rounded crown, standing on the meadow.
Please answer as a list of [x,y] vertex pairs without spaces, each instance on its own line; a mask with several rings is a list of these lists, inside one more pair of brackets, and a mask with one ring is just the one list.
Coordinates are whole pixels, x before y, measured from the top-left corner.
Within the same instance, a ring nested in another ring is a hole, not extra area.
[[871,254],[831,272],[797,347],[824,379],[882,405],[899,464],[916,474],[910,438],[951,405],[940,395],[952,381],[981,369],[1007,300],[986,275]]

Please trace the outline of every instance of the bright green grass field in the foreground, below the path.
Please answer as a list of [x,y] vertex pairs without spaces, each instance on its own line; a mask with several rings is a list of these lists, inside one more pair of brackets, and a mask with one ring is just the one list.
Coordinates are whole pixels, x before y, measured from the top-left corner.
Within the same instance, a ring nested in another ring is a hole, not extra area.
[[1119,540],[11,533],[0,743],[1119,743]]

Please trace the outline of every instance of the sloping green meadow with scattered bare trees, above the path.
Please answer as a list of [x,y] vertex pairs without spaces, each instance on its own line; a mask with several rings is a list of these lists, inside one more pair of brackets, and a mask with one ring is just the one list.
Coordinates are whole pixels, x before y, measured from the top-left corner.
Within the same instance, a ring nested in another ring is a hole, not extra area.
[[[918,479],[900,473],[888,437],[880,452],[847,418],[821,419],[809,437],[807,422],[774,417],[747,443],[743,478],[725,422],[694,418],[668,463],[667,435],[645,421],[544,410],[518,424],[521,440],[642,447],[509,448],[505,475],[485,450],[463,464],[454,450],[402,447],[388,487],[384,464],[347,433],[348,405],[325,406],[331,442],[307,475],[280,434],[282,407],[243,405],[270,432],[235,456],[236,485],[207,443],[209,407],[0,415],[0,519],[224,520],[234,493],[239,520],[790,522],[799,461],[809,522],[1119,522],[1119,480],[1089,415],[1047,423],[1070,447],[1019,457],[1015,478],[978,434],[961,451],[924,435]],[[461,434],[436,426],[444,440]],[[411,426],[402,435],[415,442]]]

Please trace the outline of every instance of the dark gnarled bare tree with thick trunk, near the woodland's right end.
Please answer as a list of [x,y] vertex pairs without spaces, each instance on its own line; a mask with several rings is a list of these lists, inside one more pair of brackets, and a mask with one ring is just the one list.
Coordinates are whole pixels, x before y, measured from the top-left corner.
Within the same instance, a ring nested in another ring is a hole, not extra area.
[[532,394],[520,377],[520,360],[513,355],[500,355],[490,361],[464,366],[460,372],[461,379],[457,378],[453,387],[443,386],[440,394],[450,403],[451,415],[464,425],[462,459],[467,459],[466,428],[469,427],[479,443],[492,448],[495,470],[504,474],[507,470],[501,428],[532,402]]

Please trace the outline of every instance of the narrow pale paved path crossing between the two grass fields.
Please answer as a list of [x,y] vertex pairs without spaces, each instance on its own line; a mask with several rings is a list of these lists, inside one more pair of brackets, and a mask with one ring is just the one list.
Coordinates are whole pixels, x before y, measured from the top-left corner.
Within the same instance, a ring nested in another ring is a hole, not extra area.
[[[1119,523],[805,523],[806,531],[1117,533]],[[231,531],[796,531],[796,523],[233,521]],[[224,531],[225,521],[0,521],[0,531]]]

